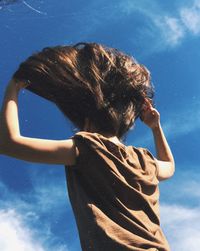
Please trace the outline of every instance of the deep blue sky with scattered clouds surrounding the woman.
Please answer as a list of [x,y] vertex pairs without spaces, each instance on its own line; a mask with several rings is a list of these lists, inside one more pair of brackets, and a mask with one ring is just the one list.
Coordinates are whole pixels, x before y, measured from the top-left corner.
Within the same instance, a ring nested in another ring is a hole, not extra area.
[[[0,1],[0,98],[19,63],[46,46],[99,42],[133,55],[151,71],[156,107],[176,160],[160,183],[161,222],[172,250],[200,246],[200,0]],[[65,139],[73,127],[28,91],[19,97],[21,133]],[[127,144],[154,151],[140,121]],[[79,251],[63,166],[0,156],[0,249]]]

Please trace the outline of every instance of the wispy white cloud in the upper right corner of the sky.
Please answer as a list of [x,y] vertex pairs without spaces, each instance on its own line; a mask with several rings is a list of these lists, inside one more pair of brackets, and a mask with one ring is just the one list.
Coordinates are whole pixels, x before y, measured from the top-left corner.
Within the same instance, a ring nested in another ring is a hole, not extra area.
[[126,0],[120,1],[119,7],[124,15],[134,16],[135,13],[140,13],[144,20],[148,19],[147,29],[143,35],[151,34],[154,46],[156,44],[155,50],[175,47],[191,33],[200,34],[199,0],[191,1],[187,6],[186,3],[180,2],[179,6],[177,5],[176,9],[173,10],[173,14],[163,9],[157,1],[151,1],[150,6],[146,0],[139,2]]

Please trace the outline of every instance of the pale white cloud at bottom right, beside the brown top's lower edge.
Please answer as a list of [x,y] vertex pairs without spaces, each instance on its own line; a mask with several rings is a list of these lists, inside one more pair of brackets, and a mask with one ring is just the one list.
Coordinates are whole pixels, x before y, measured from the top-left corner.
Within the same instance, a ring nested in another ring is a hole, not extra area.
[[161,205],[161,223],[171,250],[199,251],[200,208]]

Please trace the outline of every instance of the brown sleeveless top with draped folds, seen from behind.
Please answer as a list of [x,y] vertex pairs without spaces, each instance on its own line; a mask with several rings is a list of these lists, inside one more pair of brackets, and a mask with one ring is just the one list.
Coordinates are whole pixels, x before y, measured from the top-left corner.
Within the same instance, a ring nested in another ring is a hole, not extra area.
[[69,198],[83,251],[169,251],[160,228],[157,165],[144,148],[89,132],[66,167]]

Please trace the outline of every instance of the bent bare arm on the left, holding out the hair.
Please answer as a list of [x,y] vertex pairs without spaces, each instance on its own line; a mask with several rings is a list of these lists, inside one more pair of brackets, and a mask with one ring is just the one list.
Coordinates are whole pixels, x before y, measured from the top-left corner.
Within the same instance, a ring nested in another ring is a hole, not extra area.
[[24,83],[14,80],[7,86],[0,115],[0,153],[31,162],[75,164],[77,150],[72,139],[46,140],[21,136],[18,94],[23,87]]

